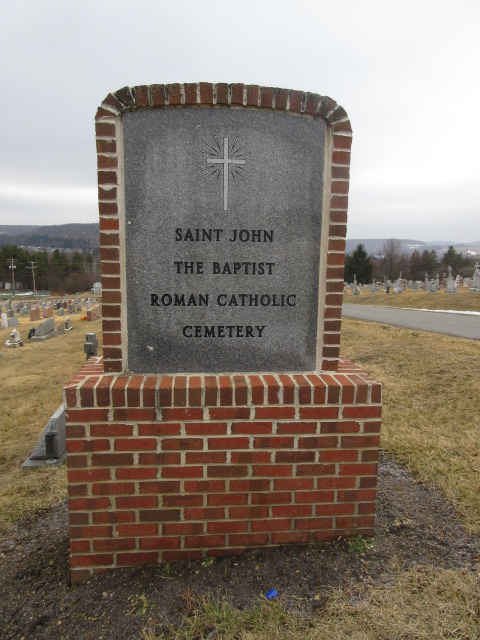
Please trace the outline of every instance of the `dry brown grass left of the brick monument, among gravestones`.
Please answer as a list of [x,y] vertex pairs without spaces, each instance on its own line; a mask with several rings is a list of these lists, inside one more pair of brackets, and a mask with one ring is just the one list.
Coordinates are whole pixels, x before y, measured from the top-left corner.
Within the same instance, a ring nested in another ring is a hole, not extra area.
[[[83,343],[88,332],[101,342],[101,321],[81,322],[71,314],[73,331],[46,342],[31,344],[28,329],[40,322],[20,318],[16,327],[25,346],[5,347],[11,328],[0,329],[0,532],[67,494],[62,467],[22,469],[52,413],[62,403],[62,388],[85,362]],[[62,322],[59,317],[55,321]]]

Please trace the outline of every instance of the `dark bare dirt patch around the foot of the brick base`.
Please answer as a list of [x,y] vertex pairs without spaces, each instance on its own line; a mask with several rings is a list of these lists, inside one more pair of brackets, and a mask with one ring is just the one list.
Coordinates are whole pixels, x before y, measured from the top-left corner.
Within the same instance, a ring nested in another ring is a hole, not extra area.
[[66,503],[24,520],[0,541],[0,637],[112,640],[175,624],[194,598],[240,609],[274,587],[292,611],[311,614],[331,587],[393,581],[416,567],[478,570],[480,540],[451,505],[387,456],[380,466],[375,547],[335,543],[249,551],[211,563],[121,569],[69,586]]

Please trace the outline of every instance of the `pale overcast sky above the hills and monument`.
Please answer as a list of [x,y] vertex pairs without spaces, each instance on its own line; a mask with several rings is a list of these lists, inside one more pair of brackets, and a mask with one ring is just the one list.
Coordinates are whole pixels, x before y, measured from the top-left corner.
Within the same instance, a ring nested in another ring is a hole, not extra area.
[[330,95],[348,236],[480,240],[478,0],[0,0],[0,224],[96,222],[94,115],[125,85]]

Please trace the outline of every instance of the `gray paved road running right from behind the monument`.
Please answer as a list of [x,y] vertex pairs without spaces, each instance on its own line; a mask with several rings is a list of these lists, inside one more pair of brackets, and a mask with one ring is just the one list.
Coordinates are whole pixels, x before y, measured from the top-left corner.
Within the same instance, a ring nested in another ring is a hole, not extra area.
[[447,333],[460,338],[480,340],[480,314],[371,307],[363,304],[344,304],[342,313],[344,318],[370,320],[419,331]]

